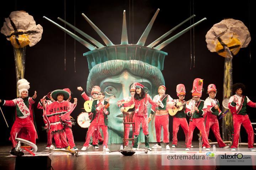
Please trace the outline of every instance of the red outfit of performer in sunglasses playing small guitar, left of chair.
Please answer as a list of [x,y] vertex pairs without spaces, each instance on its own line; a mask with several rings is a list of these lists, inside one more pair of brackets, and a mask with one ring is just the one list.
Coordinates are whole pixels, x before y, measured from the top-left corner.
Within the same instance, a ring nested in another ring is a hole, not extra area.
[[97,127],[100,127],[102,129],[103,136],[104,136],[103,145],[108,147],[107,146],[107,144],[108,144],[108,128],[107,128],[108,118],[107,118],[107,115],[110,114],[109,108],[107,108],[106,113],[103,112],[104,107],[101,108],[100,110],[98,109],[98,106],[100,106],[102,104],[106,105],[107,103],[108,103],[107,101],[99,102],[98,100],[94,100],[92,102],[91,112],[93,113],[93,116],[92,116],[92,120],[91,120],[89,129],[87,131],[87,136],[86,136],[84,146],[86,146],[86,147],[89,146],[91,135],[94,133],[94,131],[97,129]]

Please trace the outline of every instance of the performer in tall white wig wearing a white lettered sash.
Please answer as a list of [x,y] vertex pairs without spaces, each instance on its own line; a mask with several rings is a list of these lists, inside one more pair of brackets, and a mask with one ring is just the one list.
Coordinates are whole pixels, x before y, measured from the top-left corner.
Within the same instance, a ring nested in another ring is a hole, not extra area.
[[[17,88],[19,97],[14,100],[0,100],[2,106],[15,106],[15,121],[12,125],[10,132],[10,140],[12,147],[16,147],[17,142],[15,140],[16,133],[18,137],[25,140],[29,140],[36,144],[37,132],[34,122],[33,105],[37,97],[37,92],[34,92],[33,97],[28,97],[28,89],[30,89],[30,83],[26,79],[20,79],[17,82]],[[21,131],[21,129],[23,129]],[[25,133],[25,134],[22,134]]]

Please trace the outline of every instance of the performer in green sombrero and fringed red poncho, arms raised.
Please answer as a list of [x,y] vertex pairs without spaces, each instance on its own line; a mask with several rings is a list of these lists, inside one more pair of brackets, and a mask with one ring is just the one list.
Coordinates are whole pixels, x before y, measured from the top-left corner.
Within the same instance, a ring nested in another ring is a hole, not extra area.
[[55,100],[55,102],[49,105],[46,105],[45,102],[42,102],[42,104],[43,104],[43,107],[45,108],[44,112],[47,115],[47,118],[50,123],[50,130],[52,131],[56,147],[57,148],[66,147],[66,146],[62,146],[62,143],[66,143],[66,138],[68,138],[69,146],[71,150],[78,151],[78,148],[75,147],[75,143],[73,142],[74,139],[73,140],[70,139],[73,137],[73,134],[72,136],[68,136],[67,134],[64,135],[64,132],[65,132],[64,126],[69,125],[70,121],[67,121],[67,120],[69,119],[70,113],[72,113],[74,108],[76,107],[77,99],[74,98],[73,104],[66,101],[69,99],[70,94],[68,91],[65,91],[65,90],[54,90],[51,95],[52,95],[52,98]]

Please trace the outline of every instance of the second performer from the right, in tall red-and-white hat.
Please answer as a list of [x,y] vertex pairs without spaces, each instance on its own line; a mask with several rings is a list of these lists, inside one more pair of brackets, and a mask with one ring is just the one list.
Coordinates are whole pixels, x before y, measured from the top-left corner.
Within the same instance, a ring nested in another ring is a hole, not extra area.
[[[217,94],[217,88],[214,84],[209,84],[207,88],[207,93],[209,94],[209,97],[206,98],[204,101],[204,115],[206,117],[206,133],[209,137],[209,131],[212,129],[214,136],[217,139],[218,145],[220,148],[229,148],[225,143],[223,143],[222,138],[220,137],[220,131],[219,131],[219,121],[217,116],[224,115],[222,111],[220,111],[219,107],[219,101],[217,100],[216,94]],[[204,148],[203,144],[203,148]]]

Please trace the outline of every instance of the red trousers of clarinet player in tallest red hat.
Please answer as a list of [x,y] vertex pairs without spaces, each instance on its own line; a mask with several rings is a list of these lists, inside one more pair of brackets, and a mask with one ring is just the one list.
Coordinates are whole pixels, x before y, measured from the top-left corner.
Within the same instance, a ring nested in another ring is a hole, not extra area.
[[190,121],[189,128],[188,128],[188,139],[187,139],[187,148],[191,148],[192,139],[193,139],[193,131],[194,128],[199,129],[202,134],[202,141],[206,148],[210,148],[208,137],[206,134],[206,129],[204,126],[204,118],[193,118],[193,121]]

